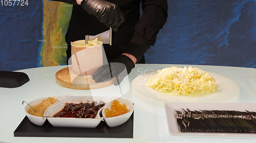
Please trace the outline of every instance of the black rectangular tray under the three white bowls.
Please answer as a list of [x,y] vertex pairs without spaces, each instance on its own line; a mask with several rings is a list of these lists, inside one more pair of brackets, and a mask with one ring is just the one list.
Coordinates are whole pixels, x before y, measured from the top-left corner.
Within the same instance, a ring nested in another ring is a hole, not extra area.
[[103,121],[96,128],[71,128],[53,127],[47,120],[44,125],[37,126],[26,116],[14,131],[14,136],[133,138],[133,119],[134,113],[127,122],[114,128]]

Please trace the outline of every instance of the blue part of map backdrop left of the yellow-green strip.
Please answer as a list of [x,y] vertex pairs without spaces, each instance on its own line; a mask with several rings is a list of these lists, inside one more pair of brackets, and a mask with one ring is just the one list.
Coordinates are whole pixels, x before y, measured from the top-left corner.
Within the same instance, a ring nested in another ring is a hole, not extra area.
[[42,2],[0,5],[0,70],[38,67],[42,39]]

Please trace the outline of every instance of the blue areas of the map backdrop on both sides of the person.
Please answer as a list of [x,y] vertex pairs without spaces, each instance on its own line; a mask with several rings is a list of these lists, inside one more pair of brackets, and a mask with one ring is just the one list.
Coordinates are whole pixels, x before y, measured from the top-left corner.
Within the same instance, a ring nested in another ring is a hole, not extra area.
[[[41,67],[44,1],[1,6],[0,70]],[[256,0],[168,0],[146,63],[256,68]],[[61,64],[60,64],[61,65]]]

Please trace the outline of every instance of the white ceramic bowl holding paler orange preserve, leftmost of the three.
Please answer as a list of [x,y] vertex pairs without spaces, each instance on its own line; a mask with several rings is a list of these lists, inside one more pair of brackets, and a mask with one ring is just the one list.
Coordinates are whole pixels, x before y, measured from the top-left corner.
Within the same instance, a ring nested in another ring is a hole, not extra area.
[[[57,103],[59,102],[59,96],[48,96],[48,97],[53,97],[53,98],[55,98],[55,99],[58,99],[57,102],[54,103],[53,105],[55,105],[55,104],[57,104]],[[37,98],[37,99],[35,99],[35,100],[33,100],[33,101],[30,101],[28,104],[31,105],[31,106],[37,105],[37,104],[39,104],[42,100],[45,100],[45,99],[47,99],[48,97]],[[33,115],[29,114],[29,113],[28,113],[28,110],[29,110],[30,106],[29,106],[28,104],[25,106],[25,112],[26,112],[26,115],[27,115],[29,121],[32,122],[33,124],[37,125],[37,126],[42,126],[42,125],[46,122],[46,118],[37,117],[37,116],[33,116]],[[52,105],[52,106],[53,106],[53,105]],[[52,106],[50,106],[50,107],[52,107]],[[50,108],[50,107],[49,107],[49,108]],[[45,111],[45,113],[44,113],[44,116],[46,116],[46,112],[47,112],[47,110],[48,110],[49,108],[46,109],[46,111]]]

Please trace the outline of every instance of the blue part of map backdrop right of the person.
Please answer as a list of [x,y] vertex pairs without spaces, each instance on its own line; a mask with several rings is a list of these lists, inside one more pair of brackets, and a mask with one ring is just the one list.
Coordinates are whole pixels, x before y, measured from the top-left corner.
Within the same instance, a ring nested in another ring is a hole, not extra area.
[[168,0],[147,63],[256,67],[256,1]]

